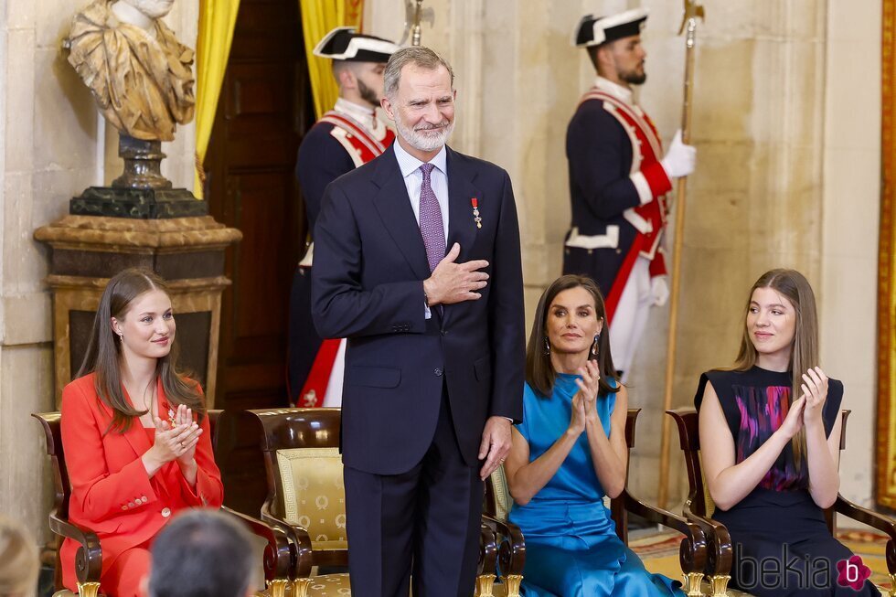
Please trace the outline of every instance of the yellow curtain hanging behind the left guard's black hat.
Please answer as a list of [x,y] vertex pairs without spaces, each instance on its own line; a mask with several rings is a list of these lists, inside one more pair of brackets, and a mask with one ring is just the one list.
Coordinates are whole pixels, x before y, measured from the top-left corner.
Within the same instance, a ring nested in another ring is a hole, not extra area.
[[320,118],[336,103],[339,88],[333,79],[330,60],[317,58],[312,50],[334,27],[355,27],[360,31],[364,0],[299,0],[299,9],[302,11],[302,35],[315,114]]

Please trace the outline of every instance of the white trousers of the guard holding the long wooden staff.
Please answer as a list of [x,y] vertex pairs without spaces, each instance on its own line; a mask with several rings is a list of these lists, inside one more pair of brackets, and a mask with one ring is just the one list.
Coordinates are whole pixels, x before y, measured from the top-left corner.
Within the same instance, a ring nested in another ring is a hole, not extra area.
[[641,336],[644,335],[647,314],[650,313],[653,302],[653,295],[650,293],[650,261],[639,255],[625,281],[622,296],[613,313],[613,324],[610,326],[613,367],[624,372],[623,382],[631,372],[629,369],[635,359],[635,350]]

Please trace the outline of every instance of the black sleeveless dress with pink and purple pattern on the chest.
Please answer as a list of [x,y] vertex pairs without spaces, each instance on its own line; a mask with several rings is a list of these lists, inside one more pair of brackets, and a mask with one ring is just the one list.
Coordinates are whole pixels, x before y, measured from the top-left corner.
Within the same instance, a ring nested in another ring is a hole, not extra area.
[[[694,404],[712,384],[734,438],[735,462],[754,453],[784,422],[790,405],[790,372],[753,367],[700,376]],[[843,384],[830,379],[822,419],[825,435],[840,412]],[[808,469],[797,470],[788,443],[752,492],[712,515],[731,532],[731,585],[753,595],[880,595],[858,557],[833,538],[824,511],[809,495]],[[850,560],[852,559],[852,560]]]

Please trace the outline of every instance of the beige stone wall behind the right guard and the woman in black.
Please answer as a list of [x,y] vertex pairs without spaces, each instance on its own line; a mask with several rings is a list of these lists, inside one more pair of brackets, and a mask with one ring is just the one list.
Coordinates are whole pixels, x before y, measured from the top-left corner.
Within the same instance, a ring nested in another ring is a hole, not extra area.
[[[394,5],[392,5],[394,4]],[[368,3],[367,31],[400,37],[400,3]],[[870,497],[874,289],[880,165],[880,0],[704,0],[673,406],[692,405],[699,373],[731,363],[752,282],[773,267],[804,272],[822,313],[823,366],[853,409],[843,492]],[[587,13],[636,5],[648,82],[640,101],[668,143],[680,123],[682,3],[663,0],[428,0],[423,43],[457,74],[453,146],[507,168],[523,233],[529,317],[560,273],[569,225],[566,124],[593,71],[571,48]],[[858,105],[857,105],[858,101]],[[470,122],[473,121],[473,122]],[[846,241],[844,222],[851,234]],[[671,246],[671,238],[670,246]],[[631,381],[644,409],[630,484],[656,499],[667,308],[655,309]],[[671,501],[685,491],[672,442]]]

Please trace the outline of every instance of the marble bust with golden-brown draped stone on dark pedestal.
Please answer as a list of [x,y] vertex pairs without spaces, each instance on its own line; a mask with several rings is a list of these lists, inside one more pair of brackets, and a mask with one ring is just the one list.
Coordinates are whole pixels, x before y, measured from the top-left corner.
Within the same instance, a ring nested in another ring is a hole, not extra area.
[[121,133],[172,141],[193,119],[193,50],[161,20],[174,0],[94,0],[69,32],[69,63]]

